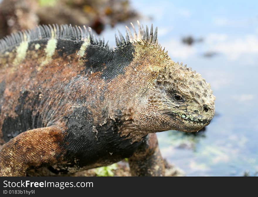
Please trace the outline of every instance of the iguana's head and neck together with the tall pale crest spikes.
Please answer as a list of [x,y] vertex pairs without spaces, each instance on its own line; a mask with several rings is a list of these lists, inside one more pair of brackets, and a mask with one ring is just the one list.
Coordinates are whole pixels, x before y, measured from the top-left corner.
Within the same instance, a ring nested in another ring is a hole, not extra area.
[[138,35],[134,30],[130,42],[134,46],[132,78],[143,81],[133,104],[135,124],[154,132],[198,131],[208,125],[215,112],[215,96],[201,74],[170,59],[157,43],[157,28],[153,34],[151,27],[149,34],[147,27],[139,25]]

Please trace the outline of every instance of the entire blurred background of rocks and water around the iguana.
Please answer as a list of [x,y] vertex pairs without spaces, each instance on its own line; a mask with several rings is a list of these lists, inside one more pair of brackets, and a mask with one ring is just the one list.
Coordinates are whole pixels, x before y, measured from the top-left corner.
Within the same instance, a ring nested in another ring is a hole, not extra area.
[[[0,3],[0,38],[38,24],[71,23],[91,26],[96,34],[109,40],[112,48],[117,28],[125,34],[125,25],[130,22],[136,24],[140,20],[149,27],[153,23],[158,27],[159,43],[168,50],[171,59],[201,73],[216,96],[215,117],[202,131],[157,133],[167,169],[170,168],[168,174],[258,175],[258,1],[0,0]],[[128,171],[124,163],[92,172],[99,176],[128,175],[124,173]]]

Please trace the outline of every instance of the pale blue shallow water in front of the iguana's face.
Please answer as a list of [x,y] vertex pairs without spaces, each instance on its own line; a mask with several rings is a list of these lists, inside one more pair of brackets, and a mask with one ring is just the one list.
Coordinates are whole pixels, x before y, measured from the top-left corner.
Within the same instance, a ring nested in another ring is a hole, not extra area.
[[[158,26],[159,43],[174,61],[183,62],[211,83],[216,114],[206,131],[158,133],[164,158],[187,176],[256,176],[258,171],[257,61],[258,2],[132,1],[144,25]],[[133,21],[136,24],[136,21]],[[114,32],[102,35],[115,46]],[[188,46],[192,35],[203,42]],[[211,57],[204,54],[211,52]]]

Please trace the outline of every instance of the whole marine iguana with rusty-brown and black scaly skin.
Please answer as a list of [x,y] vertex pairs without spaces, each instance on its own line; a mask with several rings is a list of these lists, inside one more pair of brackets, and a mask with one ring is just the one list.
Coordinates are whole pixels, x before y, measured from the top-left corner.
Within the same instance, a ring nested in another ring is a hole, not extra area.
[[43,25],[0,40],[1,176],[42,166],[72,173],[125,157],[133,176],[162,176],[155,132],[210,123],[210,85],[170,59],[157,28],[131,25],[113,50],[85,26]]

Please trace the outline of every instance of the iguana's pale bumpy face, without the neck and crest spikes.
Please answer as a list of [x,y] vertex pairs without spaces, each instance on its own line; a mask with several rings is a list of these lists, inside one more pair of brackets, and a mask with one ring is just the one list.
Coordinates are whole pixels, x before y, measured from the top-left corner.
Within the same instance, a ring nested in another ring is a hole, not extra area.
[[214,116],[215,96],[199,73],[182,64],[168,62],[157,71],[146,94],[148,105],[170,129],[198,131]]

